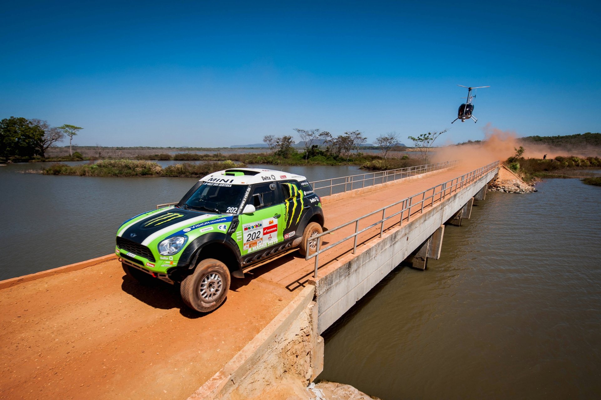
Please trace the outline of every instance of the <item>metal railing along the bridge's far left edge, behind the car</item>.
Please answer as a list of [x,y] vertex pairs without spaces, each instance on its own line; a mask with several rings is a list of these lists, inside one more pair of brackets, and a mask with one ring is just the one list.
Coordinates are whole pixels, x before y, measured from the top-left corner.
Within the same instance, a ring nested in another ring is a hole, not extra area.
[[[347,177],[323,179],[310,182],[314,192],[320,196],[331,196],[337,193],[348,192],[349,190],[361,189],[365,186],[386,183],[397,179],[407,178],[413,175],[425,174],[426,172],[439,171],[440,169],[452,168],[459,164],[461,160],[453,160],[442,163],[417,165],[406,168],[388,169],[386,171],[368,172],[367,174],[349,175]],[[320,184],[328,185],[319,186]],[[344,187],[343,187],[344,186]],[[329,189],[329,194],[326,190]],[[320,193],[317,192],[320,190]]]

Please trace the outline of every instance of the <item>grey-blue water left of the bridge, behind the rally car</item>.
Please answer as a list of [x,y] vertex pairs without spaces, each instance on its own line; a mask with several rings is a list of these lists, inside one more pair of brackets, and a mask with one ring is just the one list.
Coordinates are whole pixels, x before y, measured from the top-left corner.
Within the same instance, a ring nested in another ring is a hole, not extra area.
[[[124,220],[178,201],[197,181],[20,173],[46,164],[0,166],[0,280],[114,252],[115,232]],[[312,181],[362,173],[356,166],[257,167],[284,169]]]

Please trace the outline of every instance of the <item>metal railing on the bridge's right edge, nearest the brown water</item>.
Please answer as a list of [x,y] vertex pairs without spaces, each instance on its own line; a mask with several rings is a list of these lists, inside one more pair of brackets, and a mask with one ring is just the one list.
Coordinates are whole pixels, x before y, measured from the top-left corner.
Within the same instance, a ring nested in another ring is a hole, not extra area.
[[[307,238],[307,243],[305,243],[305,244],[307,244],[307,247],[306,247],[307,249],[309,248],[310,241],[317,240],[316,252],[312,253],[312,254],[309,254],[307,252],[307,255],[305,256],[305,260],[307,260],[307,261],[311,258],[315,258],[314,278],[317,279],[317,268],[319,268],[319,255],[321,253],[323,253],[329,249],[332,249],[333,247],[336,247],[339,244],[344,243],[345,241],[347,241],[349,239],[354,238],[355,243],[353,244],[353,254],[355,254],[357,251],[357,238],[363,232],[367,231],[368,229],[374,228],[377,225],[380,225],[379,237],[382,237],[382,234],[383,234],[384,228],[385,228],[385,222],[387,220],[392,219],[394,217],[398,217],[400,215],[400,218],[398,219],[398,226],[401,226],[403,223],[403,220],[406,220],[407,222],[409,222],[409,219],[411,218],[411,216],[413,214],[423,213],[424,207],[432,207],[434,204],[443,201],[446,196],[449,196],[452,193],[457,192],[457,190],[461,190],[463,187],[468,186],[469,184],[471,184],[472,182],[474,182],[475,180],[477,180],[484,174],[487,174],[492,169],[497,168],[498,166],[499,166],[499,162],[495,161],[493,163],[490,163],[489,165],[475,169],[472,172],[468,172],[467,174],[464,174],[460,177],[454,178],[450,181],[446,181],[445,183],[438,184],[434,187],[430,187],[430,189],[426,189],[423,192],[417,193],[417,194],[410,196],[408,198],[405,198],[401,201],[397,201],[393,204],[387,205],[386,207],[380,208],[379,210],[376,210],[369,214],[365,214],[364,216],[355,218],[347,223],[344,223],[343,225],[337,226],[336,228],[329,229],[328,231],[322,232],[319,235],[315,235],[313,237]],[[421,199],[419,199],[419,197],[421,197]],[[415,203],[413,203],[413,199],[416,199]],[[401,205],[401,210],[397,211],[394,214],[386,216],[386,210],[388,210],[388,208],[395,207],[396,205]],[[378,213],[382,213],[382,218],[380,220],[372,223],[369,226],[366,226],[365,228],[359,229],[359,222],[362,219],[365,219],[367,217],[373,216]],[[324,235],[331,234],[332,232],[337,231],[338,229],[344,228],[346,226],[352,225],[353,223],[355,224],[355,233],[348,235],[347,237],[345,237],[341,240],[338,240],[336,243],[332,243],[329,246],[324,247],[323,249],[321,248],[322,237]],[[396,220],[392,225],[386,226],[386,228],[391,228],[394,225],[397,225]],[[361,243],[364,243],[364,242],[361,242]]]

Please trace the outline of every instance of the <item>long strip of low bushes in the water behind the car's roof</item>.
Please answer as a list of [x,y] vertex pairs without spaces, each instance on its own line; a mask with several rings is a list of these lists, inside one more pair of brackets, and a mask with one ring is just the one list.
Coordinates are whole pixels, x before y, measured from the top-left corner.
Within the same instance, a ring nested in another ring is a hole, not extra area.
[[142,160],[102,160],[97,163],[70,166],[53,164],[42,170],[44,175],[79,175],[80,177],[195,177],[200,178],[222,169],[245,167],[231,161],[213,163],[183,163],[161,168],[153,162]]

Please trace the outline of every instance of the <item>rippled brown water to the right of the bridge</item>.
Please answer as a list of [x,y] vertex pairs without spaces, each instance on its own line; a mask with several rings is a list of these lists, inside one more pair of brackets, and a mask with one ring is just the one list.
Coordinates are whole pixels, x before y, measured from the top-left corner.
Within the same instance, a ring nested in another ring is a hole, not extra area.
[[426,271],[398,267],[325,332],[319,378],[382,399],[601,396],[601,187],[487,193]]

